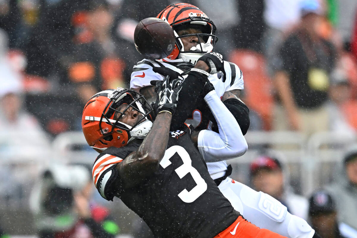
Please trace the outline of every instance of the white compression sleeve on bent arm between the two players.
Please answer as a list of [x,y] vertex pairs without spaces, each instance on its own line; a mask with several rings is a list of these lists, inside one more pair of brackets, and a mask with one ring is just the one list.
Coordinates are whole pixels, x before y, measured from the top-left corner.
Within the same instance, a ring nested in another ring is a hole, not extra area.
[[206,162],[217,162],[243,155],[247,142],[238,122],[223,104],[215,91],[207,93],[205,101],[218,125],[219,134],[202,130],[198,134],[198,150]]

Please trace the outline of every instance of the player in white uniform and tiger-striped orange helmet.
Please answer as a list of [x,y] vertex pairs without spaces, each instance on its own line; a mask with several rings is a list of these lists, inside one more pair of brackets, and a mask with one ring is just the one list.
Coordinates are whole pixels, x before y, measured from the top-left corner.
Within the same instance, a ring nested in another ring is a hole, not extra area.
[[[222,55],[212,52],[217,41],[216,27],[213,22],[196,6],[185,3],[166,7],[157,16],[167,21],[176,36],[176,45],[172,53],[162,60],[144,59],[134,66],[131,74],[131,89],[140,92],[148,101],[156,100],[152,80],[163,80],[164,76],[186,78],[187,72],[196,64],[200,57],[205,56],[210,72],[208,79],[215,87],[224,105],[238,121],[243,135],[249,126],[249,110],[239,99],[243,89],[243,75],[237,65],[223,61]],[[212,52],[211,54],[206,54]],[[200,60],[203,60],[202,58]],[[181,97],[182,97],[181,93]],[[199,104],[199,103],[198,103]],[[217,133],[211,133],[216,124],[205,121],[202,110],[193,110],[187,123],[196,128],[206,129],[192,134],[192,140],[207,163],[208,172],[215,180],[222,194],[228,198],[232,206],[243,216],[261,228],[291,238],[311,238],[313,229],[302,218],[293,216],[273,197],[254,191],[228,176],[231,167],[226,159],[242,155],[244,143],[218,138]],[[212,117],[210,117],[211,121]],[[230,125],[220,125],[229,130]]]

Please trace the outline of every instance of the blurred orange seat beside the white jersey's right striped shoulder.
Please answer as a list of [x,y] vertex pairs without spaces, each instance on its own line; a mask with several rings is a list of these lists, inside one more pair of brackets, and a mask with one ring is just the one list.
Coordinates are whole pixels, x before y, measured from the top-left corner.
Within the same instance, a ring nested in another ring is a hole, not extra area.
[[243,72],[242,100],[261,117],[263,129],[270,130],[274,99],[272,81],[266,73],[265,57],[252,50],[237,49],[228,56],[228,61],[238,65]]

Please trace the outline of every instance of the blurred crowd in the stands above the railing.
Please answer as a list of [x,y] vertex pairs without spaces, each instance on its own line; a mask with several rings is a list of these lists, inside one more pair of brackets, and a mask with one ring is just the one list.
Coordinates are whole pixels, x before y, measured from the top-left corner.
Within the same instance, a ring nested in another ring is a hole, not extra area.
[[[243,72],[251,129],[306,136],[357,129],[356,1],[190,3],[215,22],[216,50]],[[51,136],[80,130],[77,115],[94,92],[129,86],[132,66],[142,58],[133,44],[137,22],[169,4],[2,0],[0,96],[21,95]],[[56,118],[48,116],[51,110]]]

